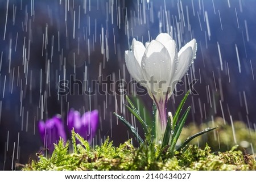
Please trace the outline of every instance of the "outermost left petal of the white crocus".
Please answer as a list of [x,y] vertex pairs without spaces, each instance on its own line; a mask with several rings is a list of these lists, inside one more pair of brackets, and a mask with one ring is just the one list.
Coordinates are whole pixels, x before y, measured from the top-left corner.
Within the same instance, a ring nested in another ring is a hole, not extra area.
[[125,51],[125,64],[131,77],[133,77],[137,82],[143,80],[141,66],[135,59],[134,53],[130,50]]

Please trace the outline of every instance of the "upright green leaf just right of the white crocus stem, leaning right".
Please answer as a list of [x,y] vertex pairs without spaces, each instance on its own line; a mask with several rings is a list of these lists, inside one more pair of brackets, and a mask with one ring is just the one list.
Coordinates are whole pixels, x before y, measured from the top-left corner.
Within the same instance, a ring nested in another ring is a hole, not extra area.
[[174,150],[175,150],[175,146],[176,146],[177,140],[179,139],[180,133],[181,133],[181,131],[183,129],[185,121],[187,120],[190,108],[191,108],[190,106],[187,108],[187,110],[185,111],[185,113],[181,117],[180,121],[175,126],[174,135],[172,136],[171,146],[170,146],[170,152],[171,152],[172,156],[174,155]]

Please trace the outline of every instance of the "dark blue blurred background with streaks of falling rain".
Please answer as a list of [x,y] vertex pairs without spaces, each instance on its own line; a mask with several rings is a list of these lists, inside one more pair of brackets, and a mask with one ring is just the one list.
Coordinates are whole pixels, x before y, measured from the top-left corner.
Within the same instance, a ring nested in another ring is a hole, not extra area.
[[[255,7],[253,0],[1,0],[0,170],[15,170],[16,163],[35,158],[43,146],[38,121],[58,113],[66,122],[69,108],[98,109],[92,145],[108,136],[114,145],[131,137],[113,112],[141,132],[125,108],[125,95],[118,95],[108,78],[131,81],[125,50],[133,38],[146,43],[160,32],[170,33],[178,49],[197,40],[187,78],[199,80],[193,86],[198,94],[186,103],[192,106],[188,124],[222,117],[223,123],[240,120],[255,130]],[[70,75],[88,81],[84,89],[97,94],[79,95],[76,86],[73,95],[57,95],[58,82]],[[93,80],[100,81],[97,89]],[[100,89],[108,92],[99,94]],[[173,95],[168,111],[174,112],[182,97]],[[150,117],[150,97],[134,100]]]

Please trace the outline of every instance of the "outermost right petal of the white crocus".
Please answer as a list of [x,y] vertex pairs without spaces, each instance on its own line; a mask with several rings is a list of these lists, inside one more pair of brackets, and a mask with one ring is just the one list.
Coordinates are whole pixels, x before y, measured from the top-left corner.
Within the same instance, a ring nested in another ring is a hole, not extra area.
[[179,64],[177,65],[177,68],[175,70],[175,74],[174,74],[174,78],[172,79],[172,82],[181,80],[181,78],[187,72],[192,61],[193,61],[193,50],[191,46],[188,46],[188,48],[185,49],[178,57]]

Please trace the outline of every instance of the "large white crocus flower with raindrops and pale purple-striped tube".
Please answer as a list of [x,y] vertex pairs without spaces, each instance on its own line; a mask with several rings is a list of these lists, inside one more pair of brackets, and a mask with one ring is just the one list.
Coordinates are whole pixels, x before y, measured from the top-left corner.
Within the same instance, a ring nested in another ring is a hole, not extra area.
[[158,136],[162,136],[166,129],[167,100],[174,91],[175,84],[181,80],[195,59],[196,48],[196,40],[193,39],[178,53],[175,40],[167,33],[160,33],[155,40],[146,43],[146,47],[133,39],[131,50],[125,51],[125,62],[131,77],[147,88],[158,108]]

